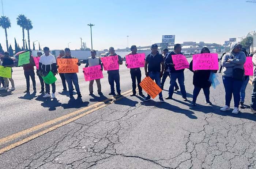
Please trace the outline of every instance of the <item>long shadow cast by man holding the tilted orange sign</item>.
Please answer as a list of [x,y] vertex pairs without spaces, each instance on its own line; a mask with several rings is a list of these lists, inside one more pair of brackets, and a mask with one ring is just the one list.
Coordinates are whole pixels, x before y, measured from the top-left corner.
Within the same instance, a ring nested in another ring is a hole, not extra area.
[[[171,105],[167,102],[161,103],[161,102],[155,102],[153,100],[147,101],[147,102],[141,102],[142,105],[144,106],[155,106],[158,107],[160,109],[166,109],[166,110],[170,110],[173,111],[175,113],[181,113],[181,114],[185,114],[187,117],[191,118],[191,119],[197,119],[197,117],[194,114],[193,111],[191,110],[186,110],[186,109],[181,109],[180,107]],[[161,111],[161,110],[159,110]]]

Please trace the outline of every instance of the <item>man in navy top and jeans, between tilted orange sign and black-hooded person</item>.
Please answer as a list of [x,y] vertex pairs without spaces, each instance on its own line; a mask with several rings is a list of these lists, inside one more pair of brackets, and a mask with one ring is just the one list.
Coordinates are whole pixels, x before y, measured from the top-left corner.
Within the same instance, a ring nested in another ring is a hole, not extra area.
[[172,99],[176,79],[178,79],[178,83],[180,84],[180,91],[182,94],[183,101],[187,101],[187,92],[186,92],[185,85],[184,85],[184,80],[185,80],[184,69],[175,70],[175,68],[174,68],[175,65],[173,64],[173,59],[172,59],[172,55],[178,55],[178,54],[182,54],[181,53],[181,45],[175,44],[174,51],[170,52],[165,59],[165,66],[166,66],[166,68],[168,67],[170,70],[169,93],[168,93],[168,97],[166,97],[165,99]]

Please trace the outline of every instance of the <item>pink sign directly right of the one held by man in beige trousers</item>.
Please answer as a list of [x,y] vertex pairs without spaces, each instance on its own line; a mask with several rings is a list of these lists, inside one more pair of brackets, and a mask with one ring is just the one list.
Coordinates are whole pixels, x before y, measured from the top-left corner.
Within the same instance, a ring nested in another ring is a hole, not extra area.
[[104,70],[119,70],[118,56],[106,56],[101,58]]

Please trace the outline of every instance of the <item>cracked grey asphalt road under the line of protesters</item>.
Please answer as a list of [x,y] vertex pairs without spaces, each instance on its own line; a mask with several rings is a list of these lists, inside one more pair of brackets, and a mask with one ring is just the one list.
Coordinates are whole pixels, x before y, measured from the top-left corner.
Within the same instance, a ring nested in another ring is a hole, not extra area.
[[[221,74],[221,84],[211,88],[213,105],[204,103],[201,91],[197,106],[191,106],[193,74],[189,70],[185,70],[189,101],[183,102],[178,91],[173,100],[160,103],[158,98],[143,102],[139,96],[129,96],[131,78],[124,65],[120,66],[122,97],[108,95],[106,72],[101,79],[104,96],[97,92],[89,96],[82,67],[78,74],[82,100],[76,96],[69,100],[68,93],[61,93],[59,75],[56,99],[44,99],[32,90],[26,95],[23,70],[14,68],[16,90],[0,93],[1,169],[256,167],[256,116],[249,107],[237,115],[219,110],[225,103]],[[169,78],[163,97],[168,83]],[[38,78],[37,87],[39,91]],[[248,83],[245,105],[250,103],[251,91]]]

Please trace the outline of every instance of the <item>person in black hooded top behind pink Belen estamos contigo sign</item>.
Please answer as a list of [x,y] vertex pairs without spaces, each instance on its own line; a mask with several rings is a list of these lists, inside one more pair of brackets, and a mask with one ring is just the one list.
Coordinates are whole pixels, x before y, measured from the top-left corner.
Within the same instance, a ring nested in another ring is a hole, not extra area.
[[[210,53],[210,50],[207,47],[203,47],[201,54]],[[206,104],[212,105],[210,102],[210,87],[211,82],[209,81],[211,70],[193,70],[193,60],[189,64],[189,70],[194,73],[193,75],[193,101],[192,105],[196,105],[196,99],[201,89],[204,91],[204,96],[206,98]],[[212,71],[215,72],[215,71]],[[217,72],[217,71],[216,71]]]

